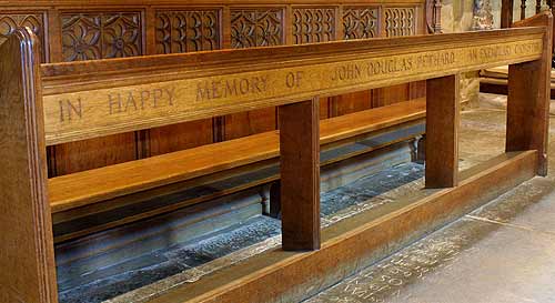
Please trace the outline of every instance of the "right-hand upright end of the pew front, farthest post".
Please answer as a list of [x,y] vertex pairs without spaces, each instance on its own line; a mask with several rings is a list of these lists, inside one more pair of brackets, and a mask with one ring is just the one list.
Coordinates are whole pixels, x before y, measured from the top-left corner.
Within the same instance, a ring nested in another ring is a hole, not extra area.
[[508,67],[506,151],[537,150],[537,174],[547,175],[553,16],[518,27],[546,27],[542,59]]

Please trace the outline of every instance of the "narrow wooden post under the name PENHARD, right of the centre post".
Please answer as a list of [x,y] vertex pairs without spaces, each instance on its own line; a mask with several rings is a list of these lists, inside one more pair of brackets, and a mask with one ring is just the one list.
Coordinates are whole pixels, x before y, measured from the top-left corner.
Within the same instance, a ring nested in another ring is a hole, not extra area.
[[426,188],[452,188],[458,175],[460,77],[427,80]]

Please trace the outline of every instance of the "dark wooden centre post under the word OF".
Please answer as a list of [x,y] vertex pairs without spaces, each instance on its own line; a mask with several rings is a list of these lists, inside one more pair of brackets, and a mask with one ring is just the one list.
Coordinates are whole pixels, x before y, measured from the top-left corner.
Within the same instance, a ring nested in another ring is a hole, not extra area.
[[283,249],[320,249],[320,102],[280,107]]

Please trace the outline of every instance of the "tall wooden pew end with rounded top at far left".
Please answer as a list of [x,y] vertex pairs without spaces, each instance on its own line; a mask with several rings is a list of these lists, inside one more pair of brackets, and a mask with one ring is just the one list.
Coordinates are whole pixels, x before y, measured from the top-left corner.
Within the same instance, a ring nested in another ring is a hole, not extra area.
[[39,61],[29,29],[0,46],[0,302],[58,302]]

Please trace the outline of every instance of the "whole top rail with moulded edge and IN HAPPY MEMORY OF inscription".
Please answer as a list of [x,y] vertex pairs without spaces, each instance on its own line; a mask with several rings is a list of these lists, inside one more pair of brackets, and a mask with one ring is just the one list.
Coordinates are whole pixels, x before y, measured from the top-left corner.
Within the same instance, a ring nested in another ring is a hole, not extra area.
[[43,64],[47,144],[533,61],[545,33],[525,28]]

